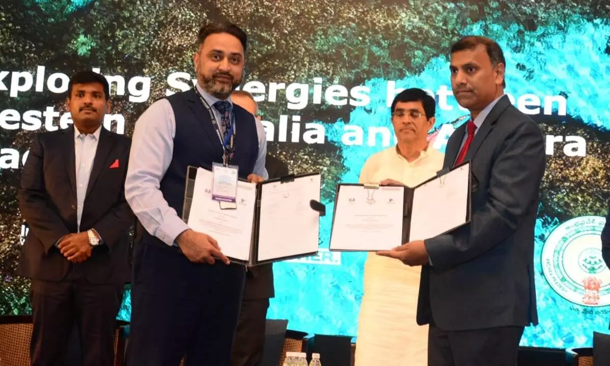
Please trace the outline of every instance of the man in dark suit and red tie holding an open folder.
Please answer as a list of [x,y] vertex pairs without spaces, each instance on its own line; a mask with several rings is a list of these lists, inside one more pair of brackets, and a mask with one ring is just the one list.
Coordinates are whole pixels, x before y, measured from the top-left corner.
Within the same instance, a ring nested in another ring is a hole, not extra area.
[[472,221],[380,253],[423,265],[417,322],[430,325],[432,366],[514,366],[524,327],[538,321],[534,226],[544,137],[504,95],[505,65],[489,38],[465,37],[451,49],[453,93],[472,118],[449,138],[443,167],[471,161]]

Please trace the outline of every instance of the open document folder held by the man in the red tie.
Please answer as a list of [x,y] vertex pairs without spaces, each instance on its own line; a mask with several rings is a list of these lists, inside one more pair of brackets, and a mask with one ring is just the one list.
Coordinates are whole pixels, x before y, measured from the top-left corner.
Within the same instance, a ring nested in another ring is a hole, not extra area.
[[470,161],[417,187],[339,184],[331,251],[391,250],[470,223]]

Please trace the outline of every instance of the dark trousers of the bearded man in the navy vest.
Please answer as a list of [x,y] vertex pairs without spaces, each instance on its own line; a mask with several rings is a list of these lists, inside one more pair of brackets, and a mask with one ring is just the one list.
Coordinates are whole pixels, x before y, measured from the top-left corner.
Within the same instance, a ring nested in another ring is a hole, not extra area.
[[163,243],[134,248],[129,366],[229,366],[242,265],[193,264]]

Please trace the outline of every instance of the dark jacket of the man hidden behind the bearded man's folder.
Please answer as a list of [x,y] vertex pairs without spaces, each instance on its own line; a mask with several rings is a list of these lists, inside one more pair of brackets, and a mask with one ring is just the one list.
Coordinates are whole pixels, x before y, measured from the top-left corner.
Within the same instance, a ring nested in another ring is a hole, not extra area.
[[[288,175],[288,165],[277,157],[267,154],[265,168],[269,179]],[[248,269],[246,282],[243,286],[243,299],[254,300],[272,298],[273,290],[273,264],[262,264]]]

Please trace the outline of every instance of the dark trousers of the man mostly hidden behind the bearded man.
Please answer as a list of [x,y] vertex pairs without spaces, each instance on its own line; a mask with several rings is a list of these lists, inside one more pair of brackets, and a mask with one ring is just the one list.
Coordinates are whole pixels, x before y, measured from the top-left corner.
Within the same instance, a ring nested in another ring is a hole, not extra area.
[[269,299],[242,301],[233,342],[231,366],[259,366],[265,346],[265,323]]

